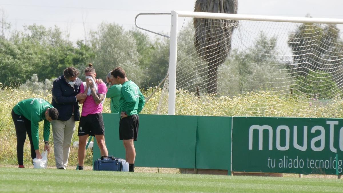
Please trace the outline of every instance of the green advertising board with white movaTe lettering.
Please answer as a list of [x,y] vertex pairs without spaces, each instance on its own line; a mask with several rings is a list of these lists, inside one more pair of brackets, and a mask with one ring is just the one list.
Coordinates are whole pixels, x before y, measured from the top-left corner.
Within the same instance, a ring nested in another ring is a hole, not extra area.
[[233,117],[232,171],[342,174],[343,120]]

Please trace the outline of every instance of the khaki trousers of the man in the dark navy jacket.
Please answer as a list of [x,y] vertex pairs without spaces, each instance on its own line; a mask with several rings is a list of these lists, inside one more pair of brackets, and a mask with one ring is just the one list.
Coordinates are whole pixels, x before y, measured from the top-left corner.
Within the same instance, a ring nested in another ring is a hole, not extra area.
[[74,116],[68,121],[52,120],[52,135],[54,136],[54,154],[56,168],[67,168],[71,139],[75,131]]

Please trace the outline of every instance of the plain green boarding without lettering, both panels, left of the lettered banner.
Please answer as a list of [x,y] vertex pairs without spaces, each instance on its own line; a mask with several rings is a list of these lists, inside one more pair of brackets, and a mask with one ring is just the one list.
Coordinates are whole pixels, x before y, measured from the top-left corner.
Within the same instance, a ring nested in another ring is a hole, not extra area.
[[[104,113],[108,154],[125,158],[118,114]],[[139,115],[135,166],[220,169],[231,174],[232,117]],[[94,139],[96,143],[96,139]],[[100,158],[94,146],[93,163]]]

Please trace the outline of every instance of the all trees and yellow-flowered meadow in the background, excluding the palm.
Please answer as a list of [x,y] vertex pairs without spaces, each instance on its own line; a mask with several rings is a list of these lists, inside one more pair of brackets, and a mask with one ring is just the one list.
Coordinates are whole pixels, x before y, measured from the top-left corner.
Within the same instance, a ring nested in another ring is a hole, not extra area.
[[[62,75],[65,68],[78,68],[81,72],[79,77],[84,80],[82,72],[88,63],[94,64],[97,77],[102,79],[114,67],[122,66],[128,78],[139,84],[145,96],[149,96],[153,87],[167,75],[169,39],[152,40],[141,31],[126,31],[115,23],[102,23],[97,31],[87,33],[90,34],[88,37],[76,42],[69,41],[68,34],[63,34],[58,27],[29,25],[25,26],[24,31],[16,31],[5,20],[0,21],[0,32],[0,164],[16,164],[16,137],[10,113],[13,106],[33,97],[51,101],[52,81]],[[343,44],[340,31],[334,25],[300,24],[294,32],[297,35],[288,37],[294,64],[278,58],[277,37],[267,37],[263,33],[248,51],[233,49],[229,59],[220,66],[222,80],[218,83],[219,87],[230,91],[225,96],[201,94],[198,97],[193,93],[195,88],[206,85],[206,76],[201,76],[206,72],[206,68],[203,68],[206,63],[198,61],[193,34],[194,29],[189,23],[178,37],[177,84],[186,84],[178,87],[176,114],[343,117],[340,83]],[[316,39],[308,34],[319,35],[315,36]],[[308,42],[320,44],[307,54],[306,50],[301,49],[306,48]],[[325,46],[331,50],[322,49]],[[337,70],[333,71],[332,68]],[[192,74],[194,76],[188,76],[191,73],[195,73]],[[293,84],[285,85],[284,82]],[[289,90],[293,95],[282,93]],[[320,95],[314,96],[316,90],[321,90]],[[142,114],[156,113],[161,93],[158,90],[152,96]],[[322,102],[312,105],[311,100],[318,99]],[[161,108],[159,112],[166,113],[167,107]],[[103,112],[110,112],[109,100],[106,100]],[[50,137],[52,141],[52,135]],[[78,137],[74,135],[72,142],[77,140]],[[31,162],[29,155],[29,145],[26,143],[25,164]],[[53,155],[49,155],[49,164],[55,162]],[[69,165],[76,163],[77,149],[72,148]],[[89,150],[86,164],[91,163]]]

